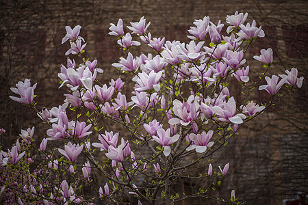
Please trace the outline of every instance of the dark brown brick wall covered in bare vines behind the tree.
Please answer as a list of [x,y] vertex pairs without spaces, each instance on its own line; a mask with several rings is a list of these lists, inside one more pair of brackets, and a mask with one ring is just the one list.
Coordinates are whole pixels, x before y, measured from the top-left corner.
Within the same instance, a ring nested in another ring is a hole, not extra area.
[[[251,61],[260,49],[271,47],[274,65],[269,74],[283,74],[295,67],[305,77],[303,87],[287,95],[277,107],[255,122],[246,124],[240,135],[216,157],[230,161],[231,172],[224,184],[247,204],[282,204],[298,192],[308,192],[307,143],[307,1],[0,1],[0,127],[3,148],[8,148],[21,128],[36,126],[37,141],[46,137],[46,127],[33,111],[12,102],[10,87],[25,78],[38,83],[35,93],[38,108],[62,104],[64,90],[57,90],[57,72],[66,64],[68,44],[61,44],[64,27],[81,25],[81,36],[88,42],[87,55],[98,59],[105,70],[101,81],[114,78],[110,65],[120,51],[116,38],[108,36],[109,23],[123,18],[136,22],[141,16],[151,21],[153,37],[189,42],[187,30],[194,19],[209,16],[213,23],[225,16],[248,12],[246,22],[262,25],[266,38],[258,39],[246,56],[252,74],[260,64]],[[224,26],[227,29],[227,25]],[[126,29],[126,31],[128,31]],[[141,51],[144,47],[137,49]],[[146,51],[150,51],[149,49]],[[238,100],[239,94],[233,93]],[[253,96],[257,102],[267,98],[265,92]],[[227,180],[230,180],[227,182]],[[226,189],[218,190],[226,195]],[[227,193],[229,195],[229,193]]]

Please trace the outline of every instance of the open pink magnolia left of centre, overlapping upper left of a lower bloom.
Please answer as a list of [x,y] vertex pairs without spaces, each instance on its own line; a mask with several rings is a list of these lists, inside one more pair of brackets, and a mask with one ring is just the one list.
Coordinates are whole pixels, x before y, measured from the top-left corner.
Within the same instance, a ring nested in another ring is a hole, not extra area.
[[99,135],[99,141],[101,141],[101,143],[94,142],[92,146],[101,148],[101,151],[108,150],[109,146],[116,147],[118,143],[118,133],[105,131],[105,135]]

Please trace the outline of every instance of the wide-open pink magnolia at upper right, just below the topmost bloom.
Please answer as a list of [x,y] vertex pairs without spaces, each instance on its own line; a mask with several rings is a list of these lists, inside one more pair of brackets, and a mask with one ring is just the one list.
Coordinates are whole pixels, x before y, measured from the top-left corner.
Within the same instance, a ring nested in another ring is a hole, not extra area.
[[261,29],[261,26],[255,27],[256,23],[255,20],[253,20],[253,23],[247,23],[246,26],[244,25],[240,25],[240,32],[238,33],[238,36],[244,38],[244,39],[248,39],[248,40],[252,40],[253,38],[263,38],[265,36],[264,31]]

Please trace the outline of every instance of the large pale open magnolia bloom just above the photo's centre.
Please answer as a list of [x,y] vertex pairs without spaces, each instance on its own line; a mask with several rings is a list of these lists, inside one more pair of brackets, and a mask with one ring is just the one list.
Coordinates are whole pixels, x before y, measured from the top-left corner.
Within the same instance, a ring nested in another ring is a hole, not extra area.
[[159,80],[161,77],[162,71],[154,72],[154,70],[152,70],[149,74],[146,74],[146,72],[140,72],[138,74],[138,78],[136,79],[136,92],[142,92],[145,90],[152,89],[158,92],[160,90]]

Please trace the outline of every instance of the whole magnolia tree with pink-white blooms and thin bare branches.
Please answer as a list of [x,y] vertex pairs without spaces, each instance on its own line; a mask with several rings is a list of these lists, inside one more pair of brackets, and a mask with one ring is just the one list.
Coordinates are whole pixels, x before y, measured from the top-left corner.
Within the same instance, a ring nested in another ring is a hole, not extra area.
[[[8,152],[1,151],[1,202],[120,204],[131,195],[136,204],[174,204],[196,197],[240,204],[234,190],[227,199],[214,192],[221,180],[228,180],[224,176],[229,163],[213,166],[212,154],[226,146],[243,124],[303,83],[296,68],[266,76],[272,65],[272,49],[262,49],[261,55],[253,57],[260,62],[260,74],[256,81],[249,77],[244,55],[257,38],[264,38],[264,31],[255,20],[245,25],[247,16],[238,12],[227,16],[229,36],[220,34],[224,27],[220,20],[217,25],[208,16],[195,20],[188,30],[188,44],[152,38],[147,32],[150,23],[146,24],[144,17],[127,26],[131,33],[125,33],[119,19],[117,25],[110,24],[109,34],[118,38],[122,51],[119,61],[112,64],[122,79],[111,79],[104,85],[97,80],[97,74],[103,73],[97,60],[84,57],[81,26],[67,26],[62,44],[70,43],[70,49],[65,54],[82,59],[82,63],[68,59],[61,67],[59,88],[67,87],[65,102],[38,111],[36,84],[25,79],[11,88],[17,96],[10,98],[34,109],[49,128],[39,148],[44,160],[29,151],[34,128],[22,131]],[[209,44],[205,43],[208,39]],[[133,56],[131,49],[141,44],[153,52]],[[264,78],[266,85],[260,85]],[[133,88],[127,94],[123,93],[124,79],[134,83],[126,84]],[[229,92],[230,83],[235,83],[230,79],[242,85],[242,102],[235,102]],[[286,88],[282,90],[283,85]],[[253,92],[268,92],[268,100],[257,105]],[[127,133],[103,127],[102,118]],[[40,165],[30,169],[34,161]],[[170,190],[183,180],[202,183],[192,190]],[[83,187],[94,195],[87,195]]]

